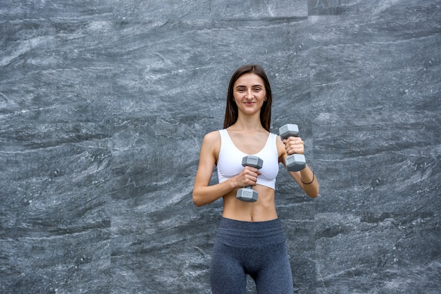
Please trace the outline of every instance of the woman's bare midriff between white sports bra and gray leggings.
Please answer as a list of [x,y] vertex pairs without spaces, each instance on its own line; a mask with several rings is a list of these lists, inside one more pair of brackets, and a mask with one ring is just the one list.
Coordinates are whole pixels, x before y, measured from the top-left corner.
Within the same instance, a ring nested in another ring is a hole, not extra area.
[[275,211],[274,189],[256,185],[253,189],[259,193],[257,201],[247,203],[236,198],[238,189],[223,196],[223,217],[243,222],[265,222],[277,219]]

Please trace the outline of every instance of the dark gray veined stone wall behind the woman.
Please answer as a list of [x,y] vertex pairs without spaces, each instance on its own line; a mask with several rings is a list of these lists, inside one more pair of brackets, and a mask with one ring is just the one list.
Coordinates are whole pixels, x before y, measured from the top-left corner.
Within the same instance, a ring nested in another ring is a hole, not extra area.
[[1,293],[209,293],[192,185],[245,63],[321,181],[280,167],[296,293],[440,290],[440,1],[2,0],[0,34]]

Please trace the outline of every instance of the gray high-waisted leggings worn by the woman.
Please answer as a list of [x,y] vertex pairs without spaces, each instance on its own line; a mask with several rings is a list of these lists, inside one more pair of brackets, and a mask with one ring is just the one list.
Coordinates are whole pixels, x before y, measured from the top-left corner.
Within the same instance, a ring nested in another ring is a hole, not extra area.
[[221,219],[211,256],[213,294],[245,293],[247,274],[254,279],[257,293],[294,293],[285,233],[279,219]]

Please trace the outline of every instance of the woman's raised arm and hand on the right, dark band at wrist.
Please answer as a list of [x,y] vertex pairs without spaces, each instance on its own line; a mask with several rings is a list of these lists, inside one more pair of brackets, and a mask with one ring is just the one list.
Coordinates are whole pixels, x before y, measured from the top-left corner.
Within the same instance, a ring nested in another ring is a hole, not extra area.
[[[278,140],[279,162],[285,165],[285,159],[288,155],[294,153],[304,154],[304,142],[299,137],[289,137],[288,139]],[[306,195],[316,198],[320,191],[316,174],[308,165],[299,172],[290,172],[291,177],[297,181],[300,187],[305,191]]]

